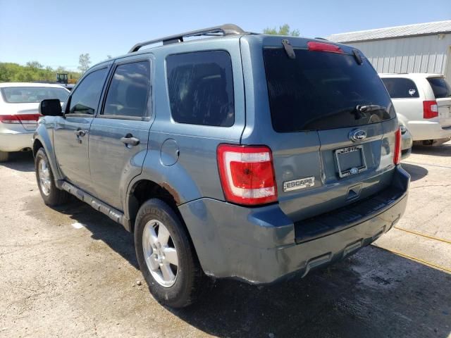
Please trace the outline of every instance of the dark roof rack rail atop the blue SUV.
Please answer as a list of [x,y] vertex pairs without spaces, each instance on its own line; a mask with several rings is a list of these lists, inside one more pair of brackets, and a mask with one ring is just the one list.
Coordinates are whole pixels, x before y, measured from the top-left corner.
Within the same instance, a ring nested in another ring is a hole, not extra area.
[[232,23],[227,23],[225,25],[215,26],[204,28],[202,30],[192,30],[191,32],[180,33],[176,35],[170,35],[168,37],[161,37],[159,39],[153,39],[145,42],[139,42],[132,46],[132,49],[128,51],[128,53],[133,53],[135,51],[139,51],[141,47],[147,46],[149,44],[156,44],[158,42],[163,42],[163,44],[174,44],[177,42],[183,42],[184,37],[200,37],[202,35],[242,35],[246,34],[241,27],[237,25],[233,25]]

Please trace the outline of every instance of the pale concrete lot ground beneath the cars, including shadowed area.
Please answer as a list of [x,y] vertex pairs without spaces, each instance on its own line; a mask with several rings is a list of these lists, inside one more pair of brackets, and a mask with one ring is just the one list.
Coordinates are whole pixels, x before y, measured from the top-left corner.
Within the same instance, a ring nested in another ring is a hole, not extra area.
[[303,280],[214,284],[160,306],[132,236],[79,201],[39,196],[30,154],[0,165],[0,337],[451,337],[451,143],[414,149],[397,229]]

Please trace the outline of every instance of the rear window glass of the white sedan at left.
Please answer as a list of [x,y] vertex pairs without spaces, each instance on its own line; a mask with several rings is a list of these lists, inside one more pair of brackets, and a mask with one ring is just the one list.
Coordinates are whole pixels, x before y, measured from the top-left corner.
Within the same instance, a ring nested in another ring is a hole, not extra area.
[[46,99],[63,102],[69,94],[66,89],[54,87],[4,87],[0,90],[4,100],[10,104],[39,103]]

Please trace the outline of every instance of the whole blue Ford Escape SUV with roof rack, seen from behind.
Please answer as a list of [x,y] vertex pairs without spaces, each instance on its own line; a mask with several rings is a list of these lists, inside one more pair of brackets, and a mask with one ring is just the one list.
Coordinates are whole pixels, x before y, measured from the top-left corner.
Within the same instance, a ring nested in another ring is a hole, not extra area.
[[350,46],[188,32],[94,65],[40,111],[44,202],[73,194],[134,232],[168,306],[192,303],[206,276],[306,275],[390,230],[407,203],[393,104]]

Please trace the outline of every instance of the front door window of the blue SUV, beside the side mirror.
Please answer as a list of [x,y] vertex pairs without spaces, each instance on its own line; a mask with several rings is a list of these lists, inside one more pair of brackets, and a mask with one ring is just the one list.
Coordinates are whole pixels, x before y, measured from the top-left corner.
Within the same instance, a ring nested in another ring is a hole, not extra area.
[[94,115],[96,113],[106,72],[107,68],[94,70],[82,80],[70,96],[69,114]]

